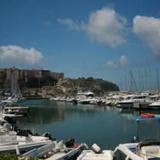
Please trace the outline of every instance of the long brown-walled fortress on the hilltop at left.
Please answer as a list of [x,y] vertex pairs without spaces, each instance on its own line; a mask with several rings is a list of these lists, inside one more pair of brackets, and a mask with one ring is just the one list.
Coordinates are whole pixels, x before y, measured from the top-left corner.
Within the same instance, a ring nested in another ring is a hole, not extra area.
[[[64,78],[64,73],[52,72],[43,69],[18,69],[0,68],[0,88],[8,89],[14,83],[18,83],[20,88],[38,87],[49,85],[54,81]],[[47,84],[48,83],[48,84]]]

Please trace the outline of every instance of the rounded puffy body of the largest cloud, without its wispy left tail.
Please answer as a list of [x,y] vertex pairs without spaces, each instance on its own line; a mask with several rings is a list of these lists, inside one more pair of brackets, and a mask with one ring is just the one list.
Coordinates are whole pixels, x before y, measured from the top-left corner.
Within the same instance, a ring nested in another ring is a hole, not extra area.
[[86,31],[89,36],[110,47],[115,47],[125,40],[122,36],[126,20],[111,8],[103,8],[91,13]]

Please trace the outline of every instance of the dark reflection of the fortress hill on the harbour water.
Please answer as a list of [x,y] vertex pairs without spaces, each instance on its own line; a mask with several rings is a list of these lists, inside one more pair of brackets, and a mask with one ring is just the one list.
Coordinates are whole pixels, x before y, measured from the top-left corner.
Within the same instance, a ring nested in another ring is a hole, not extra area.
[[[38,101],[39,102],[39,101]],[[57,121],[65,121],[67,116],[78,112],[80,117],[93,117],[96,114],[96,106],[93,105],[73,105],[65,102],[37,103],[29,101],[30,111],[27,117],[23,117],[23,124],[49,124]],[[99,108],[104,110],[104,107]],[[22,121],[22,120],[21,120]],[[20,124],[21,122],[19,122]]]

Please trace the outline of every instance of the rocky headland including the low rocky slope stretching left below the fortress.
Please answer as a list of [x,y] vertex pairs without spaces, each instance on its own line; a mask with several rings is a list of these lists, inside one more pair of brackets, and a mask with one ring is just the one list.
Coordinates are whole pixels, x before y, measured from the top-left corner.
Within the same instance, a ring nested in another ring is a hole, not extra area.
[[41,88],[27,89],[27,94],[31,95],[35,91],[43,96],[75,96],[78,91],[92,91],[95,95],[101,96],[108,91],[119,91],[119,87],[102,79],[78,78],[71,79],[65,78],[59,80],[56,84],[50,86],[43,86]]

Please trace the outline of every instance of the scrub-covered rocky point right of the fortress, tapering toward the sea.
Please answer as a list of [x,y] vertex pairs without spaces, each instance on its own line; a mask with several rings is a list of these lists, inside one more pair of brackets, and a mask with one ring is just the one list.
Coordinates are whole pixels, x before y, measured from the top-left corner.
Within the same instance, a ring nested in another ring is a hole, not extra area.
[[102,79],[78,78],[78,79],[63,79],[54,86],[54,94],[62,94],[66,96],[74,96],[77,91],[92,91],[95,95],[103,95],[108,91],[119,91],[119,87]]

